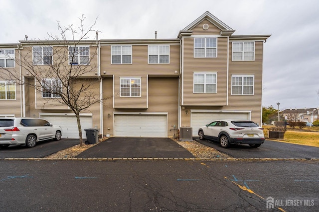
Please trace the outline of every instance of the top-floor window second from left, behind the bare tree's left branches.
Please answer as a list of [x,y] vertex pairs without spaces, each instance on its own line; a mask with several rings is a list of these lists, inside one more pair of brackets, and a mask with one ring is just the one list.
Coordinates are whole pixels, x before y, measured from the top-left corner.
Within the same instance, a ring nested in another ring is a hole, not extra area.
[[52,65],[52,47],[33,47],[33,65]]

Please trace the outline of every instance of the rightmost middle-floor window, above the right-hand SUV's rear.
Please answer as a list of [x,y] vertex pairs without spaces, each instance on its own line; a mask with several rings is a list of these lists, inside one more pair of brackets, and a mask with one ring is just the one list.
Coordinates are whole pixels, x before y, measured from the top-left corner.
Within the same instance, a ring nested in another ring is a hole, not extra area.
[[231,78],[232,95],[254,95],[254,75],[233,75]]

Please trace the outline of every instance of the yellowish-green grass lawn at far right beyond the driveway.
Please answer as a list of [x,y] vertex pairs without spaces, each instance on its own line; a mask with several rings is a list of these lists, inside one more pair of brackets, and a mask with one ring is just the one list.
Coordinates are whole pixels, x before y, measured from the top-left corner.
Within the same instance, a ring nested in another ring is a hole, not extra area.
[[[273,127],[275,126],[263,126],[265,137],[268,136],[267,131]],[[298,130],[299,128],[295,128],[294,130],[292,130],[287,127],[287,131],[284,135],[284,140],[281,141],[319,147],[319,127],[305,127],[303,128],[303,130],[305,131]]]

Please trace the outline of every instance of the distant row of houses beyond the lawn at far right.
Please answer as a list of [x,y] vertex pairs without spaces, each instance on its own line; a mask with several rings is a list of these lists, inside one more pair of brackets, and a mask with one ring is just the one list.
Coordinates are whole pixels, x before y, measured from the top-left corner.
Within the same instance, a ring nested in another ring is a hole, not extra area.
[[319,120],[319,108],[286,109],[281,112],[283,117],[287,116],[288,121],[310,122]]

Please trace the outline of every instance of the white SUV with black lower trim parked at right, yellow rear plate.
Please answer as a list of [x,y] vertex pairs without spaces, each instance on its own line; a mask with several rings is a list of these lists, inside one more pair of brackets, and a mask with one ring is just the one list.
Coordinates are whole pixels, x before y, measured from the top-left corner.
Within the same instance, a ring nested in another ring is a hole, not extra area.
[[247,143],[259,147],[265,141],[263,128],[252,121],[218,120],[202,126],[198,130],[200,140],[219,141],[224,148],[231,143]]

